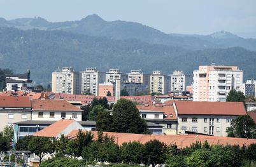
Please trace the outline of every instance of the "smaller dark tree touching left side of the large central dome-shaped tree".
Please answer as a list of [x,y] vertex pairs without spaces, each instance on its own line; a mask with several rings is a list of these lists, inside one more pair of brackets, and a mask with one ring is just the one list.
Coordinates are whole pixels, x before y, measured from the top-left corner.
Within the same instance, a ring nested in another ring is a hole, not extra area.
[[110,111],[103,110],[97,114],[96,128],[97,131],[112,131],[113,117],[110,115]]

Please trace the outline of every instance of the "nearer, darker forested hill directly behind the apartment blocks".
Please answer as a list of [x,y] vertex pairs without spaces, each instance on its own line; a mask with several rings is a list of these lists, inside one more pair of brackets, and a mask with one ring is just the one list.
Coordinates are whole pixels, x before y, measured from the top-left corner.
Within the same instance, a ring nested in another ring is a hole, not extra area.
[[51,81],[51,72],[58,67],[73,66],[75,70],[97,67],[106,71],[118,67],[122,72],[131,69],[183,70],[192,74],[198,65],[238,65],[244,79],[255,78],[256,52],[243,48],[189,51],[160,44],[148,44],[138,39],[92,37],[59,30],[18,30],[0,28],[1,68],[22,73],[31,69],[36,83]]

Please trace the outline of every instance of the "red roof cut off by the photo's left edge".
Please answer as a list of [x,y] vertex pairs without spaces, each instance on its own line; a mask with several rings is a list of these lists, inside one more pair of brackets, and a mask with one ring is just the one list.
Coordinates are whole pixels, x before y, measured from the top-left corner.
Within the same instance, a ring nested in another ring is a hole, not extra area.
[[31,108],[29,97],[0,96],[0,107]]

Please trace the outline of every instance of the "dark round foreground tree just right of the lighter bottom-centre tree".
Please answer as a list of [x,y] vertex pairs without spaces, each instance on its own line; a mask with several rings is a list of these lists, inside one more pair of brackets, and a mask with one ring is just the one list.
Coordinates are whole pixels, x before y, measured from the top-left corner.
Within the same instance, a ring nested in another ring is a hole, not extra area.
[[143,149],[143,164],[155,166],[156,164],[164,164],[166,161],[166,144],[159,140],[150,140],[146,142]]

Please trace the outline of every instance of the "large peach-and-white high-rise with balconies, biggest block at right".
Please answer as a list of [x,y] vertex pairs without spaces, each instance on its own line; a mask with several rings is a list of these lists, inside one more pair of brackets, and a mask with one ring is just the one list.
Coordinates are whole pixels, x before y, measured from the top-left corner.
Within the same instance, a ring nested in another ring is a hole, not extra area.
[[243,90],[243,70],[237,66],[202,65],[193,80],[194,101],[225,102],[229,91]]

